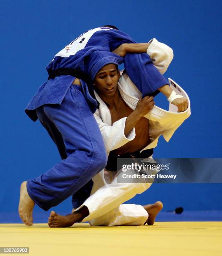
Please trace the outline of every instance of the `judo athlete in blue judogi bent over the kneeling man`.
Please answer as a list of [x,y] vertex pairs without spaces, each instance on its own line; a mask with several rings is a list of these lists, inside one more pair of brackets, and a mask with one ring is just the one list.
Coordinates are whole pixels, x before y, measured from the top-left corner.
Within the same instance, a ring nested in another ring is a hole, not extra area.
[[[40,120],[63,160],[21,184],[19,214],[26,225],[33,224],[35,203],[43,210],[58,205],[82,187],[90,187],[91,178],[106,166],[106,150],[93,117],[98,102],[85,64],[100,47],[114,51],[124,43],[136,42],[119,30],[95,28],[68,44],[46,67],[48,81],[40,86],[25,112],[33,121]],[[122,61],[143,97],[168,84],[147,54],[126,54]],[[80,90],[73,87],[76,78],[80,79]]]

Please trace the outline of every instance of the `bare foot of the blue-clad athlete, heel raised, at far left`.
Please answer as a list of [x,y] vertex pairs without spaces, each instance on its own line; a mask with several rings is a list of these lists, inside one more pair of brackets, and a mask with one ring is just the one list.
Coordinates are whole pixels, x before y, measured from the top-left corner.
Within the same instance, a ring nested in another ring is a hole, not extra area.
[[28,195],[26,183],[26,181],[23,182],[20,187],[18,213],[25,225],[31,226],[33,225],[33,207],[35,202]]

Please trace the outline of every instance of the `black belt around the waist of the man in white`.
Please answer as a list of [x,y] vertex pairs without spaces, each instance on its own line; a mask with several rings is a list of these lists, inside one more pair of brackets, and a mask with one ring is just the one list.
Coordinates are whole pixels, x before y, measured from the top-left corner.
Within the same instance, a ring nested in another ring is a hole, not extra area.
[[[133,152],[133,153],[126,153],[123,155],[117,155],[114,153],[114,151],[110,151],[109,155],[108,155],[108,161],[106,164],[106,169],[109,171],[117,171],[118,170],[118,166],[117,166],[117,159],[118,158],[127,158],[127,159],[132,159],[132,161],[135,161],[134,159],[136,158],[147,158],[149,156],[151,156],[152,154],[154,154],[154,149],[150,148],[150,149],[146,149],[144,151],[142,151],[141,153],[139,151]],[[129,164],[127,162],[127,164]]]

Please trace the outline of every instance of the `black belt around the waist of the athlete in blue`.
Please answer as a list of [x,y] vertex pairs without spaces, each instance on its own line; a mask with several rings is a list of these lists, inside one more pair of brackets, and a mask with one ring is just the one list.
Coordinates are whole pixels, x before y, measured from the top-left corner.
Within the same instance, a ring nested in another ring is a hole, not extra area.
[[[83,71],[81,71],[79,69],[58,68],[58,69],[48,71],[48,80],[53,79],[58,76],[63,76],[63,75],[73,76],[73,77],[82,79],[84,82],[86,82],[87,87],[88,87],[88,92],[90,93],[91,97],[93,97],[93,99],[96,100],[96,96],[94,94],[93,87],[92,87],[92,82],[91,82],[91,79],[88,76],[88,74],[84,73]],[[97,102],[97,108],[99,108],[98,100],[96,100],[96,102]],[[91,103],[89,103],[89,105],[91,105]]]

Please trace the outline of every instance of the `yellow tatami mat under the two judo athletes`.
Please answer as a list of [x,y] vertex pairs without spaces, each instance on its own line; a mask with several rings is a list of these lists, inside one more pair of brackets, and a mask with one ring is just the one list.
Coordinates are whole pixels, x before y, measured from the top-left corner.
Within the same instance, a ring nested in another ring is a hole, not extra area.
[[29,247],[29,255],[38,256],[222,255],[222,222],[71,228],[0,224],[0,247]]

